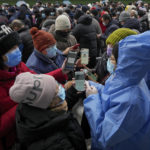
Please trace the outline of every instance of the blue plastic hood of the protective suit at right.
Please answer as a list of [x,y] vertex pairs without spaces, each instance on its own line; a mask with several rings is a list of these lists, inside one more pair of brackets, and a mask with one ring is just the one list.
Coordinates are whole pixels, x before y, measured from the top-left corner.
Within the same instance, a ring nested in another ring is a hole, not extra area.
[[131,35],[119,42],[117,69],[105,89],[114,91],[137,85],[150,70],[150,31]]

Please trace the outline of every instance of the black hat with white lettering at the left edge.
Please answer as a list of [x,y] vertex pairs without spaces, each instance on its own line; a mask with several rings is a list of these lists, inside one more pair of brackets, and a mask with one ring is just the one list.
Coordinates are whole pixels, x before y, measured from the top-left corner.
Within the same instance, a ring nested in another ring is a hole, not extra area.
[[20,44],[17,32],[6,25],[0,26],[0,55],[6,54],[12,47]]

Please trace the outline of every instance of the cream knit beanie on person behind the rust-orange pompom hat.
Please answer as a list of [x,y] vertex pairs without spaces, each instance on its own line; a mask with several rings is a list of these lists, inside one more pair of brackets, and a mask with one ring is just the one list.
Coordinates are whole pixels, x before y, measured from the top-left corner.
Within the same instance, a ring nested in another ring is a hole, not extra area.
[[66,15],[60,15],[56,18],[55,21],[55,30],[67,30],[71,29],[71,23],[69,18]]

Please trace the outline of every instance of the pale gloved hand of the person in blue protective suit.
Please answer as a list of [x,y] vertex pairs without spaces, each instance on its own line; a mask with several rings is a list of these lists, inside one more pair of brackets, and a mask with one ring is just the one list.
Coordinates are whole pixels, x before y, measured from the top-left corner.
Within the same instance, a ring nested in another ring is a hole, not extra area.
[[90,86],[88,81],[85,82],[85,85],[86,85],[86,97],[98,93],[98,90],[94,86]]

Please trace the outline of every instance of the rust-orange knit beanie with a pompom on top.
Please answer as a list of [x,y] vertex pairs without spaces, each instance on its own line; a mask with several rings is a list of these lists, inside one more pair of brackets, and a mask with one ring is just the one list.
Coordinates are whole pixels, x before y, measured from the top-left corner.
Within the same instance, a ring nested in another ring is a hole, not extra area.
[[51,33],[38,30],[36,27],[31,28],[30,33],[32,35],[34,47],[40,52],[56,43]]

